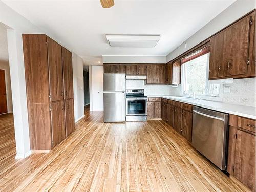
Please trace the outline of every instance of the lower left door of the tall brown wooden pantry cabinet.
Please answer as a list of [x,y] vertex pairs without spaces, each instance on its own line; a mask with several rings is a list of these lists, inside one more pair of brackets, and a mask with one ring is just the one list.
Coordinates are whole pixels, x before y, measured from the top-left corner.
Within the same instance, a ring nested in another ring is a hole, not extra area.
[[51,126],[53,147],[66,138],[64,101],[51,103]]

